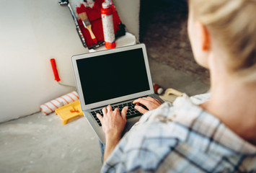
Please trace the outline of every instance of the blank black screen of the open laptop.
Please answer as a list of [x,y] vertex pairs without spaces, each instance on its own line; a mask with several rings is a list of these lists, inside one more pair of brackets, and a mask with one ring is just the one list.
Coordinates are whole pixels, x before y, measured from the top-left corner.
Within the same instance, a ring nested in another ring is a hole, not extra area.
[[149,90],[142,48],[76,63],[86,105]]

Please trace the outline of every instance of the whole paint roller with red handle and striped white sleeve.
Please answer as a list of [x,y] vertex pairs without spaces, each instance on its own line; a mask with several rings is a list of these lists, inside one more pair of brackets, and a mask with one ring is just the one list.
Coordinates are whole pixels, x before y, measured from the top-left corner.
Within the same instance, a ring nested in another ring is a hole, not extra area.
[[[66,84],[61,84],[61,79],[60,76],[58,76],[58,70],[56,66],[56,61],[54,58],[50,59],[51,66],[53,68],[53,74],[55,80],[58,82],[58,84],[63,85],[63,86],[70,86]],[[70,86],[70,87],[75,87],[75,86]],[[79,96],[77,92],[70,92],[69,94],[65,94],[61,97],[58,97],[56,99],[50,100],[50,102],[46,102],[43,105],[40,105],[40,110],[43,112],[43,114],[48,115],[54,110],[56,110],[58,107],[62,107],[63,105],[68,105],[71,102],[75,102],[77,99],[79,99]]]

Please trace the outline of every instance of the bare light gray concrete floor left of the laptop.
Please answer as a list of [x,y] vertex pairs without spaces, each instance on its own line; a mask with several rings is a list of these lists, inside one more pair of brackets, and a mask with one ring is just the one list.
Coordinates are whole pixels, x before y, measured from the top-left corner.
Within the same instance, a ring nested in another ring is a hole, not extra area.
[[62,125],[41,112],[0,125],[0,172],[100,172],[97,137],[85,117]]

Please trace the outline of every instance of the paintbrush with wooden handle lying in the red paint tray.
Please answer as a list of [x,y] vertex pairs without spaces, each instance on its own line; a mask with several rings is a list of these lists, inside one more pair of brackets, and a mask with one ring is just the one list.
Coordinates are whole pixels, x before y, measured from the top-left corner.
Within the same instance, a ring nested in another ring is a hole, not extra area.
[[97,45],[97,40],[94,33],[92,32],[92,25],[87,17],[87,12],[85,12],[84,4],[81,4],[80,8],[76,7],[76,12],[79,15],[81,21],[83,22],[84,27],[87,28],[87,30],[89,31],[89,34],[91,35],[93,42]]

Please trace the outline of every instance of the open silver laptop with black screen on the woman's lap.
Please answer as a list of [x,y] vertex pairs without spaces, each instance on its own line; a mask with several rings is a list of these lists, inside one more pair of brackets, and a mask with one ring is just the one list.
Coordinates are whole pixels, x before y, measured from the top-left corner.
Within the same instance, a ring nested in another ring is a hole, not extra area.
[[105,134],[96,113],[103,115],[103,107],[129,107],[125,133],[142,115],[134,109],[135,99],[150,96],[164,102],[154,94],[144,44],[72,56],[71,61],[81,110],[102,143]]

